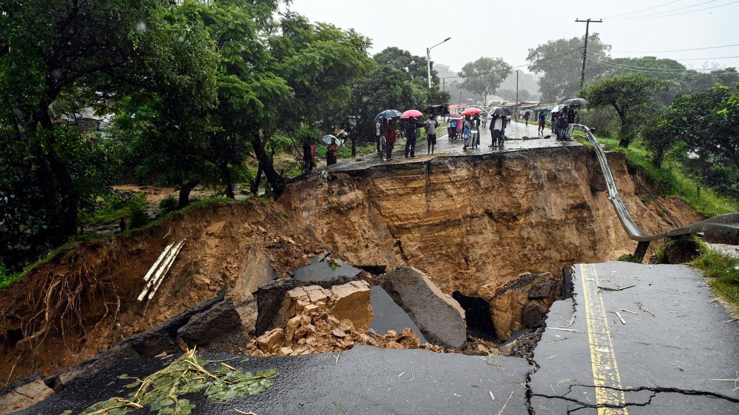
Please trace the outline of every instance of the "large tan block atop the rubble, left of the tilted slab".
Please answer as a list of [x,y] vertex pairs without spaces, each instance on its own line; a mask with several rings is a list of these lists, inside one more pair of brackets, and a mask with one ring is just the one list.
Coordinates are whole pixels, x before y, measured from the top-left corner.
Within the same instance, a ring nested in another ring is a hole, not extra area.
[[329,313],[339,320],[350,320],[358,332],[367,332],[374,314],[369,303],[369,284],[352,281],[331,287]]

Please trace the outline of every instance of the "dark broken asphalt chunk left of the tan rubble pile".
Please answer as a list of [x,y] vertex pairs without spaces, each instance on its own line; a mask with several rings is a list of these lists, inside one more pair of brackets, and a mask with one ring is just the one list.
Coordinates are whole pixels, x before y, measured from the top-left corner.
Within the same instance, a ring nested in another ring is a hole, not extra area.
[[177,341],[188,347],[208,346],[224,335],[243,329],[241,316],[234,302],[225,299],[200,314],[193,315],[183,327],[177,329]]

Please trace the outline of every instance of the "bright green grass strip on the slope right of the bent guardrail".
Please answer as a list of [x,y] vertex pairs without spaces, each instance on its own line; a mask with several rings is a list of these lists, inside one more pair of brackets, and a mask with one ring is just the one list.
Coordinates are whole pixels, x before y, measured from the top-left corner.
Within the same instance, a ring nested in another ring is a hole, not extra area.
[[[578,142],[587,142],[582,131],[575,131],[573,138]],[[606,150],[624,153],[627,161],[647,176],[661,195],[677,196],[685,200],[693,209],[708,217],[739,211],[739,200],[732,200],[718,195],[695,178],[684,172],[684,168],[676,161],[664,161],[661,167],[655,166],[649,153],[639,142],[632,142],[629,147],[619,146],[618,139],[596,136]],[[698,188],[701,188],[698,191]]]

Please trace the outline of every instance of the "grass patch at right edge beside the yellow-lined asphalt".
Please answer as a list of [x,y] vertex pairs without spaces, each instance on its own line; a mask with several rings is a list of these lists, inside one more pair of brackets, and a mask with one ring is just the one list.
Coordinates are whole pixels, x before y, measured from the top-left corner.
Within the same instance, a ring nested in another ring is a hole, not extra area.
[[714,292],[739,312],[739,258],[704,245],[690,265],[701,270]]

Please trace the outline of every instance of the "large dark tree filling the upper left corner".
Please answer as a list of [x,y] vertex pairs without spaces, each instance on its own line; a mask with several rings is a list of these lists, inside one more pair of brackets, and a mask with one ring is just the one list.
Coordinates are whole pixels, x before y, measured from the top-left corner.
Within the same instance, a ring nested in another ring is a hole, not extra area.
[[[79,108],[115,102],[132,91],[211,100],[211,43],[197,19],[170,1],[4,1],[0,13],[0,164],[22,166],[1,192],[23,203],[16,230],[32,245],[57,244],[77,231],[78,212],[105,175],[87,163],[85,139],[64,127]],[[50,111],[54,108],[54,112]],[[103,160],[103,158],[101,158]],[[102,167],[101,167],[102,168]],[[16,199],[18,200],[18,199]],[[41,203],[34,203],[40,200]],[[27,226],[23,216],[34,217]],[[18,242],[21,242],[20,240]]]

